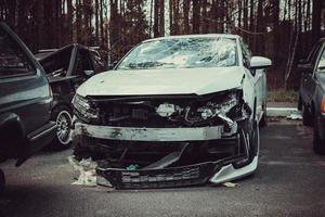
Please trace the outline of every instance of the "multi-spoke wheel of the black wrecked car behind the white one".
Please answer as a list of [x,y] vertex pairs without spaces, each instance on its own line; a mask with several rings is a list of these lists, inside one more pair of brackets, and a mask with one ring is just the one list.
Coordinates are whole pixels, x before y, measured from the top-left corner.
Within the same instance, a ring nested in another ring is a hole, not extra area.
[[66,105],[58,105],[52,111],[52,120],[56,123],[57,129],[50,149],[53,151],[61,151],[70,148],[70,132],[72,132],[72,110]]

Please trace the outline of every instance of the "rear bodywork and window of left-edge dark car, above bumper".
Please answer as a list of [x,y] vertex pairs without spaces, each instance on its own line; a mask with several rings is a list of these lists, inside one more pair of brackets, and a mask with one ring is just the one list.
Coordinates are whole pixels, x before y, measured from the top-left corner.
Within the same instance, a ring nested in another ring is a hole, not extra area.
[[18,115],[29,133],[49,122],[50,100],[42,67],[18,37],[0,23],[0,114]]

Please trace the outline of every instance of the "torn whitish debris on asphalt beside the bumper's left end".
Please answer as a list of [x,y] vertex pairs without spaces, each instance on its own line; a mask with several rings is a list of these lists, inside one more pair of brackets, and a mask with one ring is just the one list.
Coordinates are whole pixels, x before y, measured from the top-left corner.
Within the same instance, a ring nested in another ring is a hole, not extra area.
[[81,159],[78,162],[75,156],[68,157],[69,163],[73,167],[80,173],[80,176],[77,181],[74,181],[72,184],[78,186],[96,186],[96,170],[98,164],[91,158]]

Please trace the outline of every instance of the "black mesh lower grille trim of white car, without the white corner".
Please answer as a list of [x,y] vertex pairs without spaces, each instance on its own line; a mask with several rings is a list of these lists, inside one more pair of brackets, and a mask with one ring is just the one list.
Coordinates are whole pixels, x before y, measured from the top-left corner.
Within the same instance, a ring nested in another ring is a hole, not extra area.
[[127,170],[99,166],[96,174],[101,178],[98,184],[110,183],[116,189],[152,189],[152,188],[176,188],[207,183],[221,168],[234,162],[243,159],[243,156],[221,159],[217,162],[205,162],[194,165],[159,168]]

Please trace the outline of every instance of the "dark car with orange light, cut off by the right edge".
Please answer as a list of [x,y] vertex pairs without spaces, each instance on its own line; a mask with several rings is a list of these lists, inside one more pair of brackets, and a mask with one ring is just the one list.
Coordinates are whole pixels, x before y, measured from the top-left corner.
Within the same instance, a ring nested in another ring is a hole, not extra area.
[[300,61],[301,73],[298,108],[302,122],[313,127],[313,149],[325,154],[325,38],[312,49],[309,58]]

